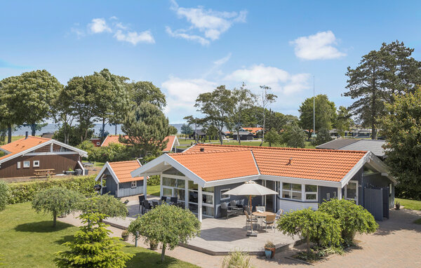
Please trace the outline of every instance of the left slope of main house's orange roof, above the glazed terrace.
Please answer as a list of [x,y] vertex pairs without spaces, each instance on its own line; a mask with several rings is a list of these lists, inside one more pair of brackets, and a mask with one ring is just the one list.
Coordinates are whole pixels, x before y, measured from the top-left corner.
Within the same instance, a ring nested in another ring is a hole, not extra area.
[[[258,175],[250,150],[169,154],[206,182]],[[227,161],[227,159],[230,159]]]

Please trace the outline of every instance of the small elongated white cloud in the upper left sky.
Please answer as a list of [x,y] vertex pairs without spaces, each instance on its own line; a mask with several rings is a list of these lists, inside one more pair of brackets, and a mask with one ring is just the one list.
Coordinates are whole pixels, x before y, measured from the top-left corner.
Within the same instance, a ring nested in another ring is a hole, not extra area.
[[154,36],[150,31],[135,32],[119,22],[116,16],[109,18],[109,21],[105,18],[94,18],[91,23],[87,25],[87,30],[81,28],[70,29],[72,33],[76,34],[77,38],[86,36],[86,34],[102,34],[111,33],[117,41],[123,41],[133,44],[136,46],[138,43],[155,43]]

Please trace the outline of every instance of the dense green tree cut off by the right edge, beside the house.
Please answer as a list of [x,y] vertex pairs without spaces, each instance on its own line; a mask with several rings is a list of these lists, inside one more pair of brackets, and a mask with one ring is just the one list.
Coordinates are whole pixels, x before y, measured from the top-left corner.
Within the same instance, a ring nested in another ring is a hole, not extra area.
[[421,89],[396,95],[380,119],[386,136],[386,163],[396,177],[396,190],[405,198],[421,200]]

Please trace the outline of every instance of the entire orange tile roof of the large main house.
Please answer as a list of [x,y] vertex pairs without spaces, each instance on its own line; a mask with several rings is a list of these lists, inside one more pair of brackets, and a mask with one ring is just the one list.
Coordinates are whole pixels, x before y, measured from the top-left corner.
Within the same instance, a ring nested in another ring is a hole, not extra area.
[[[204,152],[200,152],[204,148]],[[226,166],[234,168],[235,177],[239,177],[242,169],[249,170],[251,163],[246,163],[244,159],[238,161],[236,156],[219,157],[218,152],[253,152],[256,163],[262,175],[274,175],[282,177],[297,177],[311,180],[328,180],[339,182],[347,173],[360,161],[367,152],[363,151],[339,151],[339,150],[319,150],[300,148],[279,148],[279,147],[254,147],[239,145],[194,145],[181,155],[189,155],[189,159],[195,159],[196,166],[190,161],[186,161],[188,166],[193,166],[195,170],[206,170],[206,173],[218,173]],[[185,166],[182,157],[178,157],[180,163]],[[221,155],[222,156],[222,155]],[[199,160],[199,157],[201,157]],[[174,157],[173,157],[174,158]],[[187,157],[186,157],[187,158]],[[218,165],[210,163],[208,159],[221,159]],[[291,164],[289,164],[289,160]],[[174,158],[175,159],[175,158]],[[187,166],[186,166],[187,167]],[[187,167],[188,168],[188,167]],[[230,169],[229,169],[230,170]],[[193,170],[192,170],[193,171]],[[227,172],[226,170],[224,172]],[[196,173],[196,172],[195,172]],[[196,173],[196,175],[199,175]],[[220,177],[226,178],[227,176]],[[199,175],[201,177],[201,175]],[[203,178],[203,177],[202,177]],[[203,180],[206,180],[203,178]],[[215,179],[213,179],[215,180]]]

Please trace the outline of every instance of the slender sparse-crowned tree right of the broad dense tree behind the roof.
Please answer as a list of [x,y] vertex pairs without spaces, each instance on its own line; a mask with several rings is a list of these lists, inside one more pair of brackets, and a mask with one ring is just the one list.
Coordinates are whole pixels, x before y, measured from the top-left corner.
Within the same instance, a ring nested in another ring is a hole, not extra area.
[[237,140],[239,145],[241,145],[240,140],[240,129],[243,127],[243,120],[245,117],[245,110],[253,107],[256,100],[256,95],[251,93],[249,89],[246,88],[246,84],[243,83],[240,88],[234,88],[232,91],[232,109],[230,114],[230,121],[234,125],[234,130],[237,133]]

